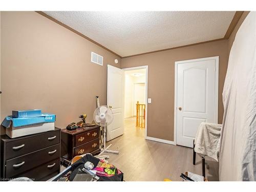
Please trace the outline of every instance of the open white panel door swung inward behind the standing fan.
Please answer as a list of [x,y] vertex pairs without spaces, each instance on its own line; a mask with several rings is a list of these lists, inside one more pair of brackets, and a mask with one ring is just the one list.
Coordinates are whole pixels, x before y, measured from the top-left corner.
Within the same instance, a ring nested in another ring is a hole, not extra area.
[[108,65],[107,104],[112,106],[113,122],[106,127],[106,141],[123,134],[124,127],[124,71]]

